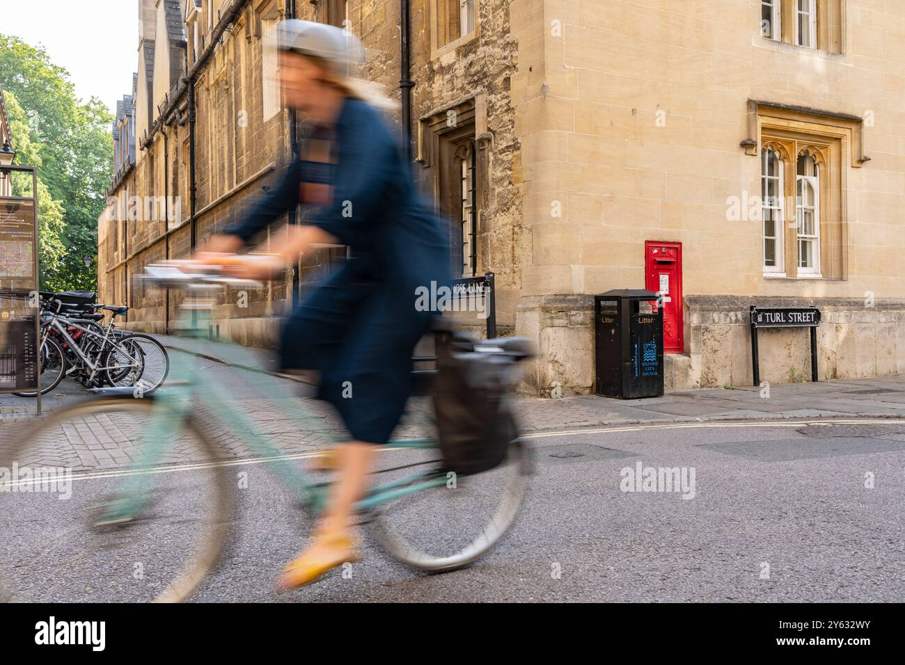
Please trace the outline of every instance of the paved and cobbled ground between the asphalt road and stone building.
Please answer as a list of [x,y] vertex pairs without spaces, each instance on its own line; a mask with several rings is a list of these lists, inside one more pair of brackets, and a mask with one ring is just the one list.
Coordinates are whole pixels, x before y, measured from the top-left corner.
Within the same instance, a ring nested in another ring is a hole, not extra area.
[[[193,371],[205,372],[224,388],[229,410],[252,415],[248,423],[231,431],[213,414],[201,410],[198,422],[214,442],[216,454],[247,458],[262,454],[261,445],[283,454],[313,452],[329,447],[341,432],[326,404],[304,401],[312,417],[299,422],[300,396],[311,394],[310,386],[294,377],[274,375],[272,354],[257,349],[233,347],[199,340],[160,337],[171,347],[174,366],[194,362]],[[251,371],[254,369],[255,371]],[[279,398],[256,396],[249,383],[259,384]],[[66,380],[43,400],[45,413],[59,411],[88,395],[80,385]],[[769,397],[755,387],[703,389],[666,394],[662,397],[616,400],[597,396],[562,399],[519,398],[515,402],[523,432],[553,432],[627,423],[681,423],[711,420],[758,420],[776,418],[905,418],[905,376],[825,381],[817,384],[770,386]],[[197,406],[197,404],[195,404]],[[427,404],[415,404],[416,411]],[[34,426],[33,399],[0,394],[0,453],[9,456],[13,440]],[[421,416],[423,422],[424,416]],[[92,414],[78,422],[61,423],[52,434],[33,442],[20,464],[64,466],[73,470],[99,470],[129,464],[138,459],[137,442],[147,430],[148,416]],[[424,427],[408,423],[397,435],[424,434]],[[161,463],[186,463],[205,459],[194,437],[183,434],[168,442]]]

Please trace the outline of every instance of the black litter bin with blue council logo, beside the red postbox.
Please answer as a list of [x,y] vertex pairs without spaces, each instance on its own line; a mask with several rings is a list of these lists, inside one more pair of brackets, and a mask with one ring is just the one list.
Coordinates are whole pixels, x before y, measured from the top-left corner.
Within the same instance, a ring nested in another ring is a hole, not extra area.
[[596,394],[663,394],[663,310],[657,294],[614,289],[594,297]]

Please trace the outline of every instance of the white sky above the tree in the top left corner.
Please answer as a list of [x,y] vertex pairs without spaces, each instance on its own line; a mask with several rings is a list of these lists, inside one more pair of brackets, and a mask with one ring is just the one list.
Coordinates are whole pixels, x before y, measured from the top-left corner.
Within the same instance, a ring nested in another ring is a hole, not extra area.
[[137,0],[4,0],[0,33],[43,44],[70,73],[75,94],[97,97],[110,112],[132,92],[138,71]]

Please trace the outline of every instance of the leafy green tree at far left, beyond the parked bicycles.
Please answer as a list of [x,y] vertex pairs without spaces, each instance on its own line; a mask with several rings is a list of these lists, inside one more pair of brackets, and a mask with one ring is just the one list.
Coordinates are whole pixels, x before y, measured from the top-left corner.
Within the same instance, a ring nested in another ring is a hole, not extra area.
[[[0,86],[14,93],[27,117],[28,138],[37,146],[40,175],[54,201],[62,204],[66,251],[47,273],[55,288],[94,289],[94,267],[82,257],[97,254],[97,223],[106,204],[113,171],[112,116],[100,102],[76,99],[69,72],[51,62],[43,47],[0,34]],[[14,134],[14,148],[23,140]],[[24,156],[17,158],[26,164]],[[38,187],[41,194],[41,186]],[[47,261],[52,265],[52,257]]]

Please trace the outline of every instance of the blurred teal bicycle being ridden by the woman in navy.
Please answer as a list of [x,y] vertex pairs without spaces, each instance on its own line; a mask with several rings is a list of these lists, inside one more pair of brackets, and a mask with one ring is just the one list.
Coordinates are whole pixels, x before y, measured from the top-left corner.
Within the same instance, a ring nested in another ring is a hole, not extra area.
[[[195,338],[208,337],[215,290],[261,286],[215,272],[146,270],[146,284],[187,291],[183,329]],[[32,473],[0,482],[0,597],[178,602],[199,591],[227,543],[238,541],[232,564],[247,565],[249,575],[261,566],[248,561],[281,537],[293,538],[294,552],[294,538],[324,508],[330,486],[325,471],[303,470],[300,462],[317,461],[338,441],[336,424],[322,403],[288,397],[286,378],[248,371],[231,389],[224,371],[186,355],[154,394],[97,389],[100,398],[0,442],[0,466],[57,472],[49,480]],[[430,400],[413,398],[407,412],[399,429],[405,438],[376,453],[375,481],[357,511],[397,561],[455,570],[487,553],[512,525],[528,485],[529,451],[516,439],[500,466],[457,477],[444,469]],[[281,482],[262,476],[262,466]],[[251,537],[238,528],[246,510],[265,516]],[[243,555],[243,546],[252,554]]]

